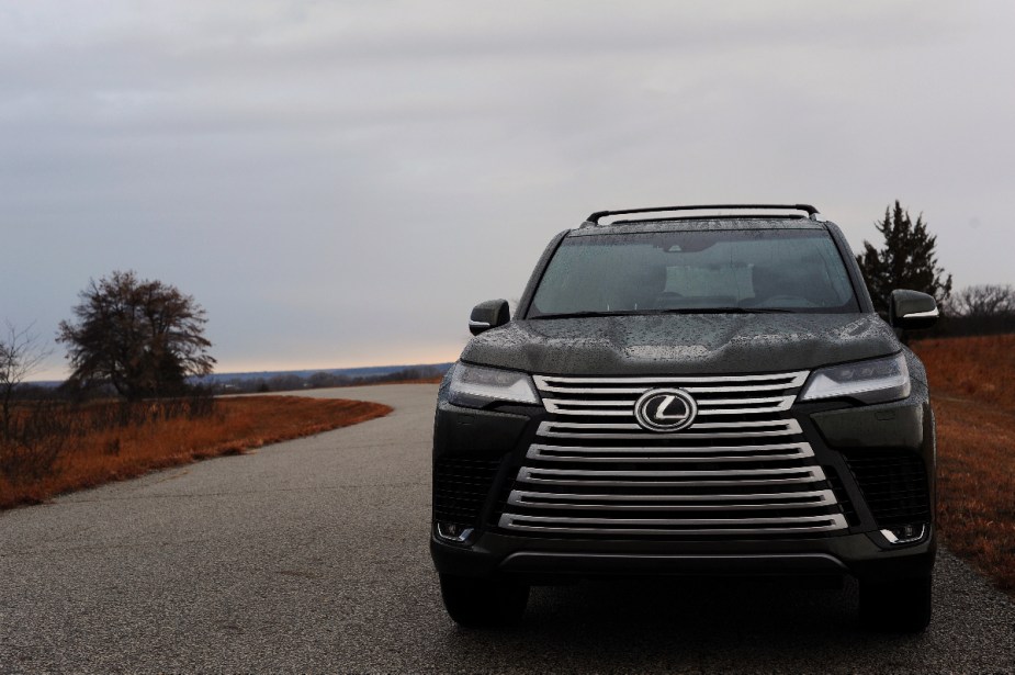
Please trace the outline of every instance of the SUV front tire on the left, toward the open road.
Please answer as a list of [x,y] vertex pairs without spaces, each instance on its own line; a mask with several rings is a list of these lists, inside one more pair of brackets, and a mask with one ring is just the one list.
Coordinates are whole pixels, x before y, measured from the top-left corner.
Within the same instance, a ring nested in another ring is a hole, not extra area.
[[465,628],[496,628],[521,619],[529,601],[529,587],[510,581],[490,581],[440,575],[444,608],[455,623]]

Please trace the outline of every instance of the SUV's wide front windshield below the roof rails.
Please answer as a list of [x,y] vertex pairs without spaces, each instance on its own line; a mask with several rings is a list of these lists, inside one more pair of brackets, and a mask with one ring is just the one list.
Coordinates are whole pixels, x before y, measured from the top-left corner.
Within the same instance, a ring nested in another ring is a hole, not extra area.
[[859,312],[828,233],[731,229],[566,237],[528,318]]

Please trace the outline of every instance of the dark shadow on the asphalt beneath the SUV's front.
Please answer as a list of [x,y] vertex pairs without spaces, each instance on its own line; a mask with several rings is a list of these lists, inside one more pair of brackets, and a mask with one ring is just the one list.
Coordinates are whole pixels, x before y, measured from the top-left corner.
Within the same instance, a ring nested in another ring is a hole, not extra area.
[[865,631],[852,581],[654,578],[534,587],[519,625],[444,644],[475,671],[905,672],[927,635]]

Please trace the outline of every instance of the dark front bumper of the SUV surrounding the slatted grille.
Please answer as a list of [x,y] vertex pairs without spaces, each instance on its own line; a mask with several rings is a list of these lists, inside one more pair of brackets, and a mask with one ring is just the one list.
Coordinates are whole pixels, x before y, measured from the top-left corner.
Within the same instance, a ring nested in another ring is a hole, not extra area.
[[[625,575],[844,575],[884,581],[925,576],[936,553],[934,421],[921,393],[876,406],[848,402],[798,405],[788,413],[800,423],[819,463],[839,476],[836,491],[849,527],[834,535],[787,538],[610,539],[518,536],[497,528],[503,496],[522,464],[540,421],[534,406],[493,410],[460,408],[441,402],[435,427],[437,471],[443,461],[485,462],[488,483],[477,493],[476,517],[464,541],[437,535],[435,513],[430,551],[437,570],[474,577],[512,576],[554,583],[576,577]],[[926,472],[926,530],[912,543],[892,544],[881,533],[883,495],[865,494],[857,465],[884,453],[920,458]],[[854,458],[854,463],[847,461]],[[877,497],[877,498],[876,498]],[[881,521],[879,521],[879,519]]]

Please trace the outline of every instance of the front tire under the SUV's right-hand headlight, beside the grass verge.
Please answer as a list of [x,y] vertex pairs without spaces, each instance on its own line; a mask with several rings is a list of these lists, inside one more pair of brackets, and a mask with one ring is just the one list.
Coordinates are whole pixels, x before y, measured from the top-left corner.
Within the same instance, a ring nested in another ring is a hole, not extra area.
[[880,632],[923,631],[931,622],[931,578],[860,580],[860,622]]

